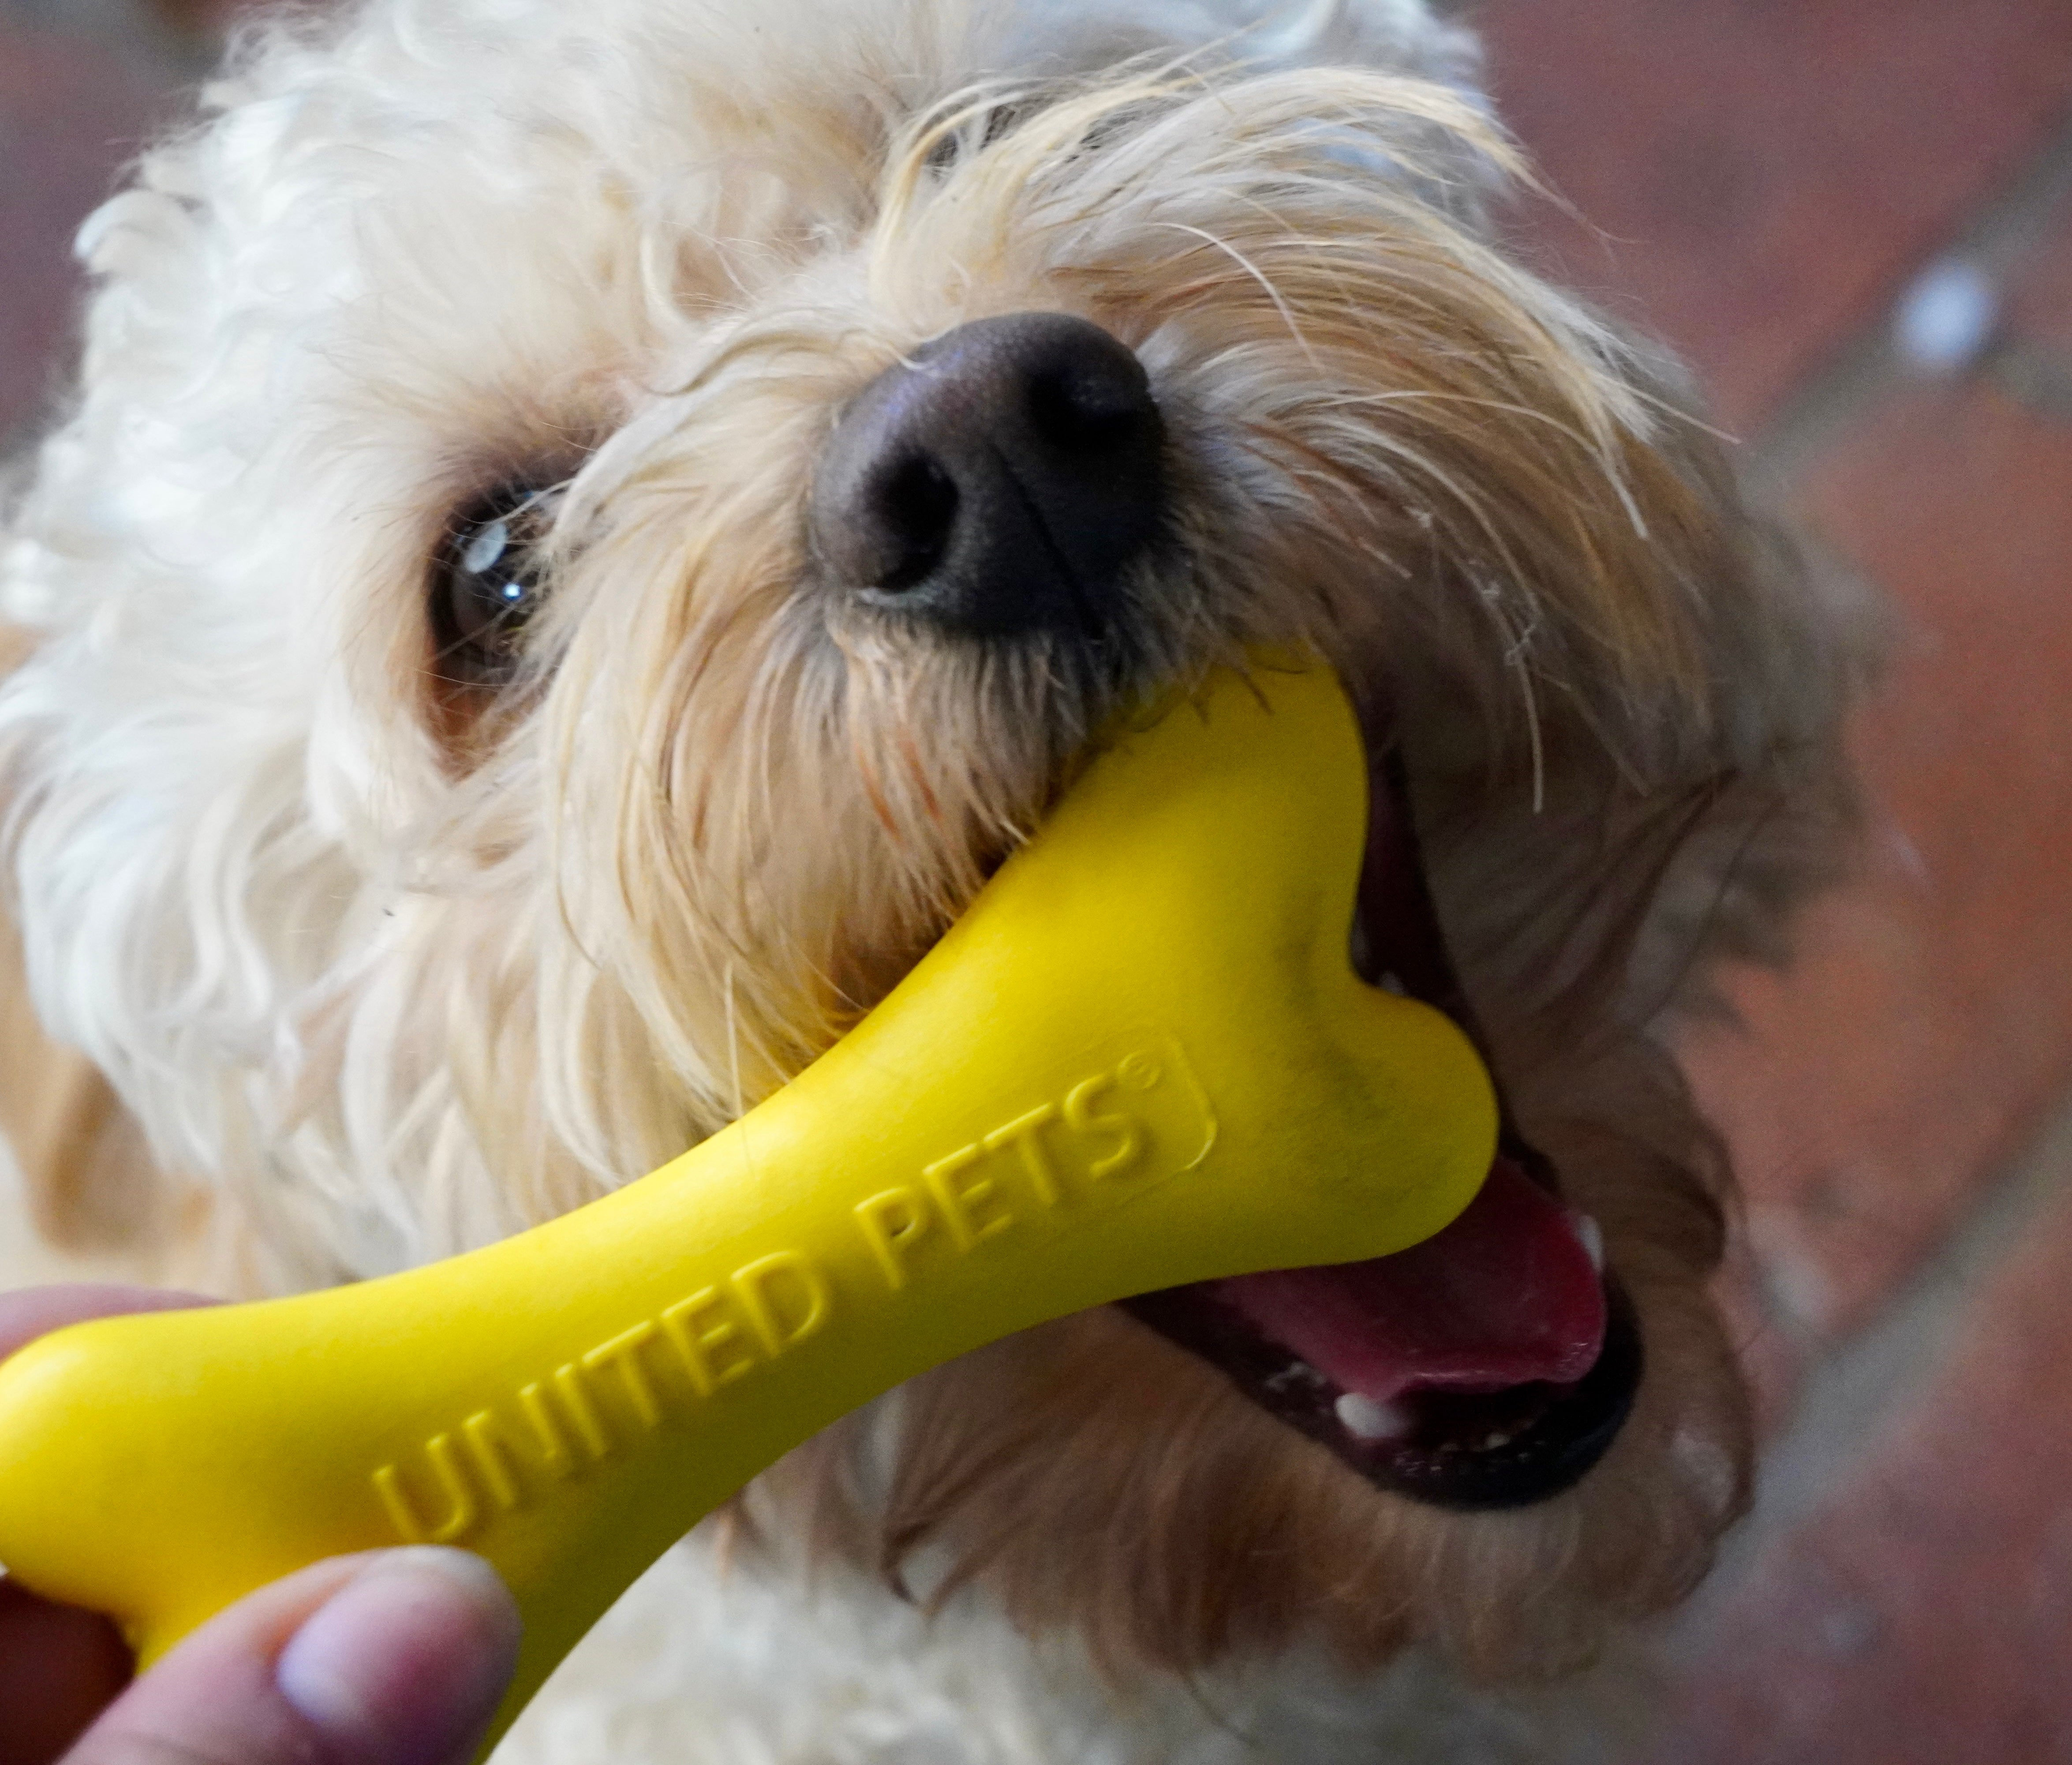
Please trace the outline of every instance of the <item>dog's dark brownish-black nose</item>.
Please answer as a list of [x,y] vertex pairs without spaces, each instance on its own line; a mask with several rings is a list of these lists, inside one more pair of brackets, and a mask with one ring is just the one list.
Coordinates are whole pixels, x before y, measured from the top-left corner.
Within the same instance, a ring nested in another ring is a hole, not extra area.
[[957,631],[1100,631],[1162,519],[1144,365],[1069,313],[974,319],[841,413],[812,548],[841,587]]

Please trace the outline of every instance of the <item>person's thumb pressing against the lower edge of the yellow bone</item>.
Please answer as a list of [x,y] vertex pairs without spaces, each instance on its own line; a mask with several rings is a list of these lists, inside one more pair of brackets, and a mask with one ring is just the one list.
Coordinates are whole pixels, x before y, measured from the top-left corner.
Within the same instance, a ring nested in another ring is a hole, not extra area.
[[334,1558],[211,1618],[62,1765],[462,1765],[516,1659],[518,1607],[481,1558]]

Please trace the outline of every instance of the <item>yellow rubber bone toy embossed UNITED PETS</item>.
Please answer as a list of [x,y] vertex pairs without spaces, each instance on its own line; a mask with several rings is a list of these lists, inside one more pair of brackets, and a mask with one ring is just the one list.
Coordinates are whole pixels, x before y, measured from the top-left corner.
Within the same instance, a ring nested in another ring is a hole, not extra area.
[[151,1659],[317,1558],[466,1545],[526,1620],[501,1732],[700,1514],[899,1379],[1430,1236],[1496,1108],[1444,1016],[1349,966],[1363,819],[1328,672],[1214,676],[862,1025],[653,1176],[448,1263],[0,1367],[0,1562]]

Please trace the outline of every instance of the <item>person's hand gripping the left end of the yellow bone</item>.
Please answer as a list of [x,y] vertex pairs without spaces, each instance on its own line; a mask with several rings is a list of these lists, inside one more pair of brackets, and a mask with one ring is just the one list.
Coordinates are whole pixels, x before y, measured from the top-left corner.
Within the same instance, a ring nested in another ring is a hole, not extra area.
[[[64,1323],[182,1305],[205,1300],[0,1294],[0,1358]],[[311,1564],[135,1682],[114,1624],[0,1578],[0,1765],[460,1765],[516,1657],[518,1609],[466,1551]]]

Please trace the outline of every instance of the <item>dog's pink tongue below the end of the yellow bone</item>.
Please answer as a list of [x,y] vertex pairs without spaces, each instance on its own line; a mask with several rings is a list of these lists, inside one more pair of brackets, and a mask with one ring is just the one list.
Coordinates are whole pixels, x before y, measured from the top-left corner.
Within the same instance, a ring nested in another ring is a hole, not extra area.
[[1376,1402],[1442,1385],[1571,1383],[1604,1344],[1604,1282],[1569,1211],[1508,1157],[1436,1238],[1322,1269],[1210,1282],[1332,1383]]

